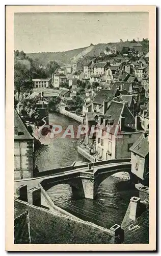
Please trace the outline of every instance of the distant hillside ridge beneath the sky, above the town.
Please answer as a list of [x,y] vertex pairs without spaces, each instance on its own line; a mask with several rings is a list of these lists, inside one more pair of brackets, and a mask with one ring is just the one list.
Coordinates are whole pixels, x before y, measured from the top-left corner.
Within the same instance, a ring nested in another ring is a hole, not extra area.
[[28,53],[26,56],[29,56],[32,59],[39,59],[43,65],[46,65],[48,61],[54,60],[58,62],[59,65],[72,63],[77,61],[79,58],[87,57],[96,57],[99,56],[100,52],[104,52],[106,47],[116,47],[117,51],[120,52],[123,46],[133,47],[142,44],[142,50],[145,51],[145,54],[148,52],[149,42],[139,41],[139,42],[109,42],[108,44],[98,44],[90,45],[88,47],[74,49],[66,52],[42,52],[42,53]]

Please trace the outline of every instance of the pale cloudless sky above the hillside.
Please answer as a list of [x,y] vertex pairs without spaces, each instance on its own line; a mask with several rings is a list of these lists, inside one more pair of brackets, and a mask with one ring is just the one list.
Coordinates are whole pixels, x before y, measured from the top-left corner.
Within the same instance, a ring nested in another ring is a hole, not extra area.
[[58,52],[148,37],[148,12],[15,13],[14,49]]

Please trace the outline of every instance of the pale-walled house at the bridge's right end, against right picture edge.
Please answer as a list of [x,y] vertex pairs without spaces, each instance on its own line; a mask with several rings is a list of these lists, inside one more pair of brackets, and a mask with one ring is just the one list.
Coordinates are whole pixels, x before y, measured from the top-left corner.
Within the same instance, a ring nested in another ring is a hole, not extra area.
[[138,182],[146,185],[149,179],[149,134],[144,132],[130,147],[131,173],[138,178]]

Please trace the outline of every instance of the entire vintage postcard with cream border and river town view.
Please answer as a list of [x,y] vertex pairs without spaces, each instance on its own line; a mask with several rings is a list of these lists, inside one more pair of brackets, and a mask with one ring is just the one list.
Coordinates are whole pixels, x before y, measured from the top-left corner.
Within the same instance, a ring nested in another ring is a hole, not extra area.
[[6,6],[6,250],[156,250],[156,7]]

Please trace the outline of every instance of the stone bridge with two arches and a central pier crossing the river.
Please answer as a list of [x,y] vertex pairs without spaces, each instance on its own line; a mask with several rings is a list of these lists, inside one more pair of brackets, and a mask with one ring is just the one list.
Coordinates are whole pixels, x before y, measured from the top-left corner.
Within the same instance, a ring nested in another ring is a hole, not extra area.
[[[94,163],[81,163],[35,174],[35,178],[15,181],[15,185],[40,186],[47,191],[58,184],[68,184],[76,198],[95,199],[101,182],[109,176],[128,172],[131,177],[131,159],[112,159]],[[32,185],[33,184],[33,185]]]

